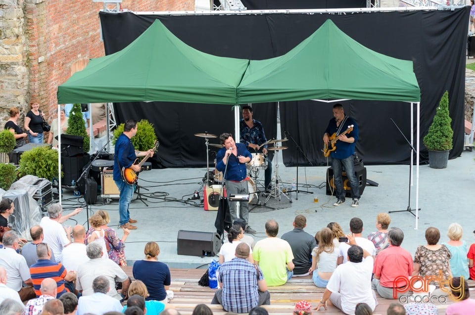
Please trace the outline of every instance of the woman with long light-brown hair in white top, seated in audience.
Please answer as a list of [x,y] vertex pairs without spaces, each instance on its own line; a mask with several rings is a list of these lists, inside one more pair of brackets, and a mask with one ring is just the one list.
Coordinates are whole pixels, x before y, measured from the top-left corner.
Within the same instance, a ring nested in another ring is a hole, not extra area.
[[333,233],[328,227],[320,230],[318,247],[312,251],[312,273],[313,283],[319,288],[326,288],[328,280],[336,269],[336,260],[338,259],[338,248],[333,244]]

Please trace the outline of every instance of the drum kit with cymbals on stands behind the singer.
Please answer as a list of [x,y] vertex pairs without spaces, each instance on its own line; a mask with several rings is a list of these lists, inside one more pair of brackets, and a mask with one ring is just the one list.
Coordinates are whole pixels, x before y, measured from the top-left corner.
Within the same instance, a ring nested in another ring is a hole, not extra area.
[[[217,138],[216,135],[210,134],[208,132],[204,133],[195,133],[196,137],[205,138],[205,145],[206,145],[206,174],[203,178],[203,182],[205,185],[211,186],[213,184],[220,185],[223,181],[223,173],[216,169],[216,159],[214,160],[214,170],[209,170],[209,147],[215,148],[223,148],[221,144],[209,143],[209,139]],[[267,195],[266,201],[264,202],[263,206],[266,207],[267,202],[271,197],[279,198],[281,200],[281,195],[284,195],[285,198],[291,203],[292,200],[283,193],[284,188],[282,187],[282,181],[279,176],[279,151],[287,149],[284,146],[278,146],[279,143],[285,142],[287,139],[272,139],[267,141],[266,143],[261,144],[259,147],[263,147],[264,145],[274,145],[273,147],[268,147],[267,150],[275,151],[276,152],[276,166],[274,168],[274,177],[271,180],[273,183],[273,187],[270,193]],[[254,196],[257,197],[257,204],[256,206],[261,206],[259,201],[259,193],[260,191],[257,190],[257,177],[259,176],[260,171],[264,171],[267,169],[267,156],[262,153],[251,153],[252,159],[246,163],[246,168],[249,170],[249,179],[247,180],[247,188],[249,190],[249,203],[253,200]]]

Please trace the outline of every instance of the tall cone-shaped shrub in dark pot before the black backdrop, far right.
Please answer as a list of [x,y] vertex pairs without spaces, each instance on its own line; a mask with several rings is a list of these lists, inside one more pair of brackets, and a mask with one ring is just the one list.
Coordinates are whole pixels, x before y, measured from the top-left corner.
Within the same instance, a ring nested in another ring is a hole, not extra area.
[[452,149],[454,131],[450,123],[449,93],[445,91],[440,99],[434,120],[424,137],[424,145],[429,152],[429,166],[432,168],[446,168],[449,151]]

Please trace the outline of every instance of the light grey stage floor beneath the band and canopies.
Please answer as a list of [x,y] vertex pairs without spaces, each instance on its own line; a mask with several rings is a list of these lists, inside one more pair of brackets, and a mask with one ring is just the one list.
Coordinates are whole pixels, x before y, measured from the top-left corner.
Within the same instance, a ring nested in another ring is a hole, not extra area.
[[[158,151],[158,154],[160,152]],[[409,212],[392,213],[391,226],[404,231],[405,239],[402,247],[413,255],[417,246],[426,244],[425,230],[429,226],[440,229],[441,242],[448,241],[447,227],[452,222],[460,223],[464,228],[463,240],[474,243],[475,229],[474,181],[475,181],[475,152],[464,151],[461,157],[449,160],[446,169],[432,169],[428,165],[420,167],[420,190],[418,229],[415,229],[416,218]],[[282,160],[282,158],[280,158]],[[295,215],[307,217],[305,231],[315,234],[329,222],[341,224],[345,232],[349,231],[349,221],[352,217],[360,217],[364,222],[363,234],[367,235],[376,230],[376,215],[389,210],[406,210],[408,207],[409,166],[408,165],[365,165],[367,178],[377,182],[378,187],[366,186],[360,206],[352,208],[351,201],[339,207],[333,207],[335,197],[326,195],[327,167],[300,167],[298,183],[300,190],[309,185],[308,190],[313,194],[299,193],[296,200],[292,193],[290,208],[279,210],[262,210],[256,208],[249,213],[249,225],[257,231],[257,240],[266,237],[264,224],[267,219],[274,218],[279,222],[279,236],[292,229]],[[275,165],[273,165],[275,169]],[[414,170],[414,185],[411,186],[411,208],[416,206],[416,172]],[[185,169],[152,169],[140,174],[139,184],[141,193],[147,198],[145,206],[137,200],[131,204],[131,217],[139,222],[137,230],[131,231],[126,242],[126,258],[133,261],[144,258],[143,247],[148,241],[155,241],[160,246],[159,260],[175,268],[193,268],[205,265],[212,257],[196,257],[177,255],[177,236],[179,230],[214,232],[216,211],[205,211],[199,206],[199,200],[184,203],[192,197],[193,192],[200,188],[200,183],[206,174],[205,168]],[[263,172],[260,178],[263,179]],[[290,186],[296,178],[295,167],[285,167],[282,162],[279,175],[286,185]],[[144,190],[144,189],[147,190]],[[202,192],[200,192],[200,196]],[[137,196],[137,195],[135,195]],[[318,198],[318,203],[314,202]],[[198,207],[193,206],[196,202]],[[281,203],[288,203],[282,197]],[[71,191],[63,190],[63,207],[66,213],[84,205],[82,196],[75,197]],[[107,210],[111,217],[111,226],[118,230],[118,200],[110,204],[98,202],[89,207],[90,213],[99,209]],[[74,219],[74,220],[72,220]],[[64,225],[86,225],[86,210],[66,221]]]

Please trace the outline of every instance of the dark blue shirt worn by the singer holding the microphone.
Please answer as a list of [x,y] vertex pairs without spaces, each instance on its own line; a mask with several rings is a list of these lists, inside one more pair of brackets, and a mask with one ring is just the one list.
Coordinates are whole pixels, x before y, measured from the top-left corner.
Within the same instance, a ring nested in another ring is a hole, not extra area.
[[[236,148],[238,149],[238,156],[249,157],[252,158],[252,155],[247,151],[246,147],[242,143],[237,143]],[[216,160],[218,163],[216,164],[216,168],[220,172],[224,172],[226,168],[226,164],[223,163],[223,157],[226,153],[226,148],[222,148],[218,151],[216,155]],[[226,169],[225,179],[227,180],[235,180],[235,181],[242,181],[247,177],[247,169],[246,163],[240,163],[238,157],[234,154],[231,154],[228,157],[228,168]]]

